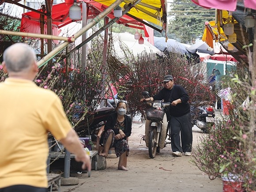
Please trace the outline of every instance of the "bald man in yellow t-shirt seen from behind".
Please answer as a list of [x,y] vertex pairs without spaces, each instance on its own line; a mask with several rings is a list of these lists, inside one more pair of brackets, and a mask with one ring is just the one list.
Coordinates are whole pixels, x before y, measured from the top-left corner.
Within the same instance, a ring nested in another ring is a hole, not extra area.
[[90,170],[90,157],[60,98],[33,82],[38,73],[33,49],[16,43],[3,58],[8,78],[0,83],[0,192],[47,192],[48,132]]

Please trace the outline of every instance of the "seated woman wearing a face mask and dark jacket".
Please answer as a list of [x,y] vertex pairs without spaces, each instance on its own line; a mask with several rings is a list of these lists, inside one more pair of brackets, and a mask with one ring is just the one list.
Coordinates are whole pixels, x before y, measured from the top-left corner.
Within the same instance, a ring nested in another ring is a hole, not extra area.
[[129,145],[127,138],[132,132],[132,119],[125,113],[127,104],[124,101],[117,103],[116,112],[110,115],[104,128],[100,144],[104,146],[101,156],[107,157],[109,148],[115,147],[115,153],[119,158],[118,169],[127,171],[127,156],[129,154]]

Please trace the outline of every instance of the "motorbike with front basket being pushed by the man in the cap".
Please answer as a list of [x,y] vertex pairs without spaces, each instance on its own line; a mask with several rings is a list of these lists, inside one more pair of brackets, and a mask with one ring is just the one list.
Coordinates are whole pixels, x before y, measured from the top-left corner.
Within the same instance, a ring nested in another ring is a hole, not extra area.
[[[142,95],[144,98],[149,98],[149,93],[143,91]],[[170,102],[162,101],[144,101],[151,108],[146,110],[146,124],[145,124],[145,140],[146,146],[148,147],[148,153],[150,158],[154,158],[156,152],[160,152],[160,149],[166,147],[166,137],[169,135],[170,128],[168,126],[168,120],[165,108],[170,105]]]

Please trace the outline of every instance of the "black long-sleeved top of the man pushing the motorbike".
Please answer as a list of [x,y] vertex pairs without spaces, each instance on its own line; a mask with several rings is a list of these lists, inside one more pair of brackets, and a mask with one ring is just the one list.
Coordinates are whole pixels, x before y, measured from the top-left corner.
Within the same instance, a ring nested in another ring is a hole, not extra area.
[[190,113],[190,105],[188,103],[189,97],[187,91],[180,85],[173,85],[171,90],[163,88],[160,92],[154,95],[154,100],[164,100],[165,102],[173,102],[181,99],[181,103],[176,106],[169,107],[169,113],[173,117],[181,117]]

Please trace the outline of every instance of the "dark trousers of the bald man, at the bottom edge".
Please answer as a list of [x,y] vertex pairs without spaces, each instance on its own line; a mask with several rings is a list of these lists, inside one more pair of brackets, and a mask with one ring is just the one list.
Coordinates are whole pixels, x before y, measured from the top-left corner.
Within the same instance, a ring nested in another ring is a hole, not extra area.
[[17,184],[5,188],[0,188],[0,192],[48,192],[48,189],[24,184]]

